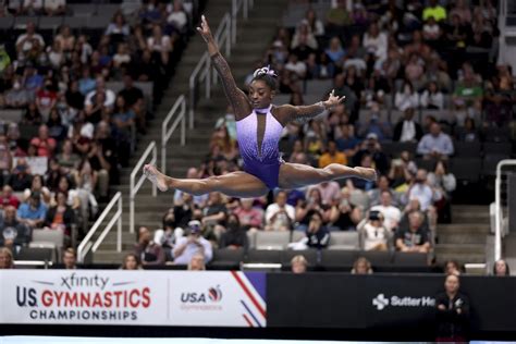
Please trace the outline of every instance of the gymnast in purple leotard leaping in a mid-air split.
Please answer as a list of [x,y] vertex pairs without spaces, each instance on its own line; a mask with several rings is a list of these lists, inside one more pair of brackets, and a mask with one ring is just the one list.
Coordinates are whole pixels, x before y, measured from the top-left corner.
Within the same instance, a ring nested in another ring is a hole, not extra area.
[[236,86],[230,66],[221,56],[204,15],[197,30],[208,45],[211,61],[222,79],[228,100],[233,107],[236,118],[236,138],[244,160],[244,171],[206,179],[175,179],[162,174],[151,164],[146,164],[144,174],[161,192],[169,188],[193,195],[221,192],[230,197],[244,198],[259,197],[277,187],[299,188],[343,177],[360,177],[369,181],[377,179],[373,169],[349,168],[339,163],[316,169],[283,161],[278,144],[286,123],[312,119],[324,110],[337,106],[344,97],[340,98],[332,91],[328,100],[312,106],[272,106],[277,75],[269,67],[255,71],[249,93],[246,95]]

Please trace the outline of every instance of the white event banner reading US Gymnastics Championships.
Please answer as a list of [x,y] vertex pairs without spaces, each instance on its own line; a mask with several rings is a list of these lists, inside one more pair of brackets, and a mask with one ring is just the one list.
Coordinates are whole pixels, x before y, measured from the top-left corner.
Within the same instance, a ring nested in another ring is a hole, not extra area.
[[266,273],[1,270],[0,323],[266,327]]

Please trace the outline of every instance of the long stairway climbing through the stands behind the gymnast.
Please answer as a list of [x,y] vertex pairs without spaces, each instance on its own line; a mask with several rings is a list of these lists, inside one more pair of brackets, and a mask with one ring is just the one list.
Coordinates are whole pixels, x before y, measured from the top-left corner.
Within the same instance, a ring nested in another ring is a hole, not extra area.
[[[211,29],[214,32],[220,20],[231,9],[231,0],[209,1],[205,14],[209,21]],[[248,20],[239,20],[237,27],[236,45],[232,49],[229,59],[233,75],[237,83],[243,84],[245,76],[254,70],[255,62],[261,58],[270,40],[272,39],[278,23],[280,23],[286,1],[260,0],[255,1],[255,7],[249,11]],[[132,168],[123,169],[121,186],[115,187],[123,194],[123,253],[115,250],[116,235],[115,228],[108,234],[99,250],[93,257],[94,262],[120,263],[123,256],[133,249],[136,242],[136,234],[131,234],[128,230],[130,210],[130,175],[133,167],[139,160],[148,144],[156,140],[161,145],[161,123],[177,97],[184,94],[188,97],[188,79],[206,51],[206,44],[199,35],[192,37],[186,47],[182,60],[176,67],[174,77],[169,89],[164,93],[163,100],[156,111],[156,118],[151,122],[147,135],[138,143],[138,149],[131,159]],[[198,167],[202,158],[208,153],[208,143],[218,118],[225,113],[225,96],[220,83],[212,89],[211,99],[201,100],[196,109],[195,128],[187,131],[186,146],[179,145],[179,135],[174,133],[168,147],[167,172],[173,176],[184,176],[189,167]],[[158,159],[160,161],[160,158]],[[151,230],[161,228],[163,213],[172,206],[173,193],[158,194],[151,196],[151,185],[146,182],[136,196],[135,223],[136,232],[139,225],[146,225]],[[108,217],[109,219],[109,217]],[[107,223],[107,221],[106,221]],[[98,231],[100,232],[100,231]]]

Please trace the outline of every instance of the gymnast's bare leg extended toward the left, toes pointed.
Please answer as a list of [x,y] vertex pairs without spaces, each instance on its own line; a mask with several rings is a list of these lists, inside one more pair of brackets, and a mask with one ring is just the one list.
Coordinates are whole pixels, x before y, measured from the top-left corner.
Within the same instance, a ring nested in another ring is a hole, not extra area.
[[144,174],[162,192],[176,188],[195,196],[220,192],[230,197],[259,197],[269,191],[263,182],[243,171],[207,179],[174,179],[159,172],[156,167],[146,164]]

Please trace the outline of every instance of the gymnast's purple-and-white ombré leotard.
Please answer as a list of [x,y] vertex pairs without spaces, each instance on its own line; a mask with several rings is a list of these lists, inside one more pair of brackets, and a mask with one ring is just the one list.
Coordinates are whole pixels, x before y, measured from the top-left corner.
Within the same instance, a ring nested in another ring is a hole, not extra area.
[[[279,185],[280,165],[283,162],[280,156],[278,143],[280,142],[283,125],[272,115],[270,106],[267,109],[253,110],[253,112],[236,122],[236,139],[244,171],[262,181],[270,189]],[[258,116],[266,116],[266,131],[261,143],[261,151],[258,147]]]

